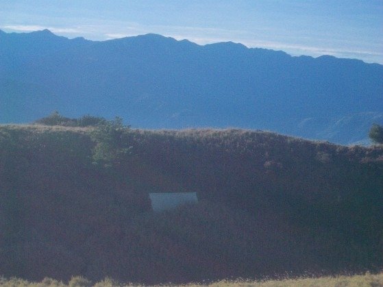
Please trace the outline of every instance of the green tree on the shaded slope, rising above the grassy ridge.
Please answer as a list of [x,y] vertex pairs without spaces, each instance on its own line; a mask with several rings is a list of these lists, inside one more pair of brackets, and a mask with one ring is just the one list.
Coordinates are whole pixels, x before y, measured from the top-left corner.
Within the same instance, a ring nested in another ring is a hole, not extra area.
[[92,131],[92,140],[96,146],[92,150],[93,164],[102,164],[105,167],[119,165],[123,155],[129,153],[130,147],[123,140],[123,134],[129,126],[123,125],[123,119],[116,116],[113,121],[102,121]]

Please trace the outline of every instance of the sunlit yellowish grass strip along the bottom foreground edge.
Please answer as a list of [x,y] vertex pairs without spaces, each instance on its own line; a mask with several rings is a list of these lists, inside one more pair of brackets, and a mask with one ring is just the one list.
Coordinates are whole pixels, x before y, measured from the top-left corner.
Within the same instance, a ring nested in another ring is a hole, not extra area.
[[[72,277],[68,284],[61,281],[45,278],[41,282],[29,282],[24,279],[11,278],[5,279],[0,277],[0,286],[16,287],[16,286],[144,286],[139,284],[121,284],[110,278],[103,279],[101,282],[92,284],[88,279],[78,276]],[[172,284],[164,284],[160,286],[173,286]],[[297,278],[297,279],[277,279],[264,281],[251,281],[244,279],[237,280],[221,280],[212,284],[185,284],[186,287],[378,287],[383,286],[383,273],[350,276],[334,276],[334,277],[318,277],[318,278]]]

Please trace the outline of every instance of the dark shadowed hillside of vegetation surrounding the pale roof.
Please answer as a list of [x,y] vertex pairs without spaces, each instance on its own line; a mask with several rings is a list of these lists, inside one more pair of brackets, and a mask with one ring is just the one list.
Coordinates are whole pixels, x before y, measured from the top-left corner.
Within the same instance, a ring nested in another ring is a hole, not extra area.
[[[199,203],[151,211],[148,192],[180,191]],[[5,277],[153,284],[375,272],[382,218],[381,146],[132,130],[119,118],[0,127]]]

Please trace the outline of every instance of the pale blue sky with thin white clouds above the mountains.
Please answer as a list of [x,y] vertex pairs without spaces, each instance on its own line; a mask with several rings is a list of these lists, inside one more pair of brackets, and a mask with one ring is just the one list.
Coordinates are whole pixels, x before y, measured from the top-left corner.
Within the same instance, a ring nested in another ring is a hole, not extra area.
[[0,0],[0,29],[89,40],[155,33],[383,64],[383,0]]

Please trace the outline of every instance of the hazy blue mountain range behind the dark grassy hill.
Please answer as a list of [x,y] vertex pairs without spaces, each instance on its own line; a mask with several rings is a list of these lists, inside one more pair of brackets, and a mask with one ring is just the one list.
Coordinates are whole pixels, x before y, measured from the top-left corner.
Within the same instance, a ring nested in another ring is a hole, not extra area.
[[156,34],[102,42],[0,32],[0,123],[119,115],[132,127],[241,127],[366,142],[383,65]]

